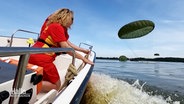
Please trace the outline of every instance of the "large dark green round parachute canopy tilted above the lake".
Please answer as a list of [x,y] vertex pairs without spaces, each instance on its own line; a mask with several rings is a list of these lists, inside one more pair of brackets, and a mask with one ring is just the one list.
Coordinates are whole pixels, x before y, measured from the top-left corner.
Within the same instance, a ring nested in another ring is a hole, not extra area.
[[130,22],[118,31],[121,39],[133,39],[147,35],[155,28],[155,24],[150,20],[138,20]]

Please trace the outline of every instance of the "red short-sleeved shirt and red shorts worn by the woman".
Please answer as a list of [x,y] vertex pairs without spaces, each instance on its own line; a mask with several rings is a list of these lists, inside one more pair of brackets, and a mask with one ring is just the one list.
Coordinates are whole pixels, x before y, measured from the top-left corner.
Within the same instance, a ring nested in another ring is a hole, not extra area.
[[[58,43],[67,41],[69,38],[67,28],[58,23],[52,23],[49,26],[46,26],[46,22],[47,20],[42,26],[40,38],[54,47],[60,47]],[[37,41],[33,47],[48,48],[49,46]],[[55,65],[53,64],[55,57],[56,55],[51,53],[32,54],[30,55],[29,63],[43,67],[43,80],[56,83],[59,80],[59,74]]]

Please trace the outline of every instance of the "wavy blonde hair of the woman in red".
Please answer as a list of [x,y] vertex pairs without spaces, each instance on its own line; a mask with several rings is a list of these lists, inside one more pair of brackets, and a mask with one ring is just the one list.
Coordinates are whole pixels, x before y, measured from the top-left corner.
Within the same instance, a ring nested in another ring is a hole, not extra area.
[[48,17],[47,26],[51,23],[60,23],[62,26],[70,28],[71,24],[73,23],[73,11],[67,8],[55,11],[51,16]]

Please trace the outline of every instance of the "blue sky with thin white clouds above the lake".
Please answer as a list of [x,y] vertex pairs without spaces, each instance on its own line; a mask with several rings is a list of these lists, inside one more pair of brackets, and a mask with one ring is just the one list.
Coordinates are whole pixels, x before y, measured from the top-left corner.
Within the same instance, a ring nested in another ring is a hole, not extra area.
[[[0,35],[17,29],[40,32],[59,8],[74,12],[70,41],[93,46],[97,57],[184,58],[184,0],[1,0]],[[136,39],[120,39],[119,29],[136,20],[151,20],[154,30]],[[158,56],[157,56],[158,57]]]

